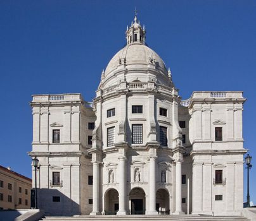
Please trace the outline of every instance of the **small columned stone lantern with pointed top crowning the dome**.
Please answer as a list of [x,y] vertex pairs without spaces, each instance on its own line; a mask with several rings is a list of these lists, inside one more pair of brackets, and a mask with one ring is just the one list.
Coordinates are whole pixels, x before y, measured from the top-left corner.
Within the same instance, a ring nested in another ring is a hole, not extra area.
[[141,25],[139,24],[137,15],[138,15],[138,11],[135,8],[135,16],[134,16],[134,23],[132,22],[131,27],[128,28],[127,26],[127,30],[125,32],[126,34],[126,41],[127,41],[127,45],[128,44],[145,44],[145,39],[146,39],[146,30],[144,28],[141,27]]

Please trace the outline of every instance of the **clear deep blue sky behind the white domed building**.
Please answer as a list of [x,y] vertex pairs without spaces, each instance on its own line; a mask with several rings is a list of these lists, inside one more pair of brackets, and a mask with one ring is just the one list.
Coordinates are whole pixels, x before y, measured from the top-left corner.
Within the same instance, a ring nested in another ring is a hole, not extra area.
[[125,45],[135,6],[183,99],[195,90],[244,91],[256,203],[256,1],[1,0],[0,164],[31,177],[31,95],[80,92],[91,101],[101,70]]

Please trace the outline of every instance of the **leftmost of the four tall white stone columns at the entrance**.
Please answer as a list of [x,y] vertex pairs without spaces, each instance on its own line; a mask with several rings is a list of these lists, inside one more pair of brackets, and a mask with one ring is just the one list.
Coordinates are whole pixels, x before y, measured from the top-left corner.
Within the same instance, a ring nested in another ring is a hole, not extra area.
[[99,162],[93,162],[93,212],[90,215],[99,215]]

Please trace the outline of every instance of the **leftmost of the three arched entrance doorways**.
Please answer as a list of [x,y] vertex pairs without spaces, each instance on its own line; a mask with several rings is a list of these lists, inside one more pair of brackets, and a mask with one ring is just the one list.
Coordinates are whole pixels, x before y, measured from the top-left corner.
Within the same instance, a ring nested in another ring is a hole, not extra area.
[[116,215],[119,210],[118,192],[116,189],[108,189],[105,193],[105,215]]

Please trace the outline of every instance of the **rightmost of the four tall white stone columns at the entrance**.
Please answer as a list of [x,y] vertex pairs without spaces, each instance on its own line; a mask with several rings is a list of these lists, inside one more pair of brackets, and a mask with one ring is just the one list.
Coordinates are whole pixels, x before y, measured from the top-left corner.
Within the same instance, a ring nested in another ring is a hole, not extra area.
[[174,214],[184,214],[181,208],[181,160],[176,161],[176,211]]

